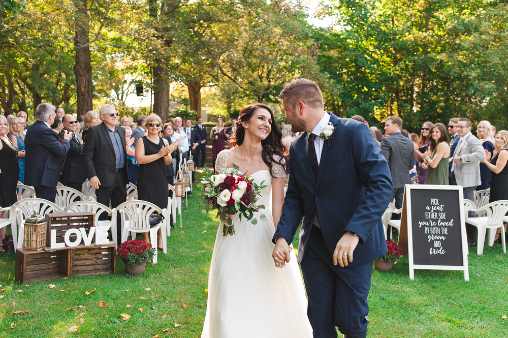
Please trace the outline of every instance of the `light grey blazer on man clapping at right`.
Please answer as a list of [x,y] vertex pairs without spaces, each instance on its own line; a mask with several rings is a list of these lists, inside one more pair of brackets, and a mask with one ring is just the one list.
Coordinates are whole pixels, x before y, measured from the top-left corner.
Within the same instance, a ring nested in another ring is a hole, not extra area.
[[[457,146],[459,146],[459,143],[457,143]],[[450,161],[453,161],[454,157],[459,156],[461,163],[456,164],[454,169],[457,185],[464,188],[481,185],[480,161],[485,159],[485,151],[483,150],[482,142],[476,136],[472,134],[469,135],[466,140],[460,144],[460,148],[455,149],[455,154]]]

